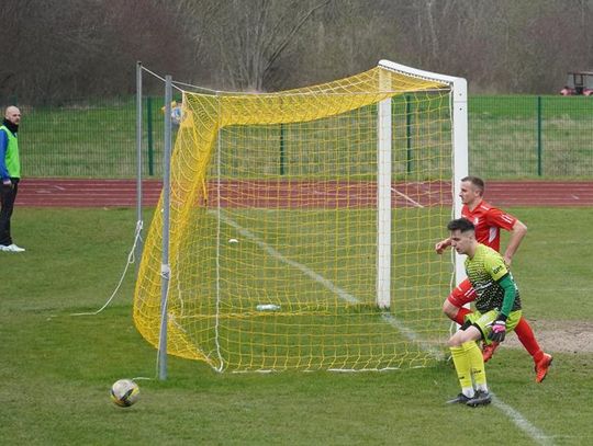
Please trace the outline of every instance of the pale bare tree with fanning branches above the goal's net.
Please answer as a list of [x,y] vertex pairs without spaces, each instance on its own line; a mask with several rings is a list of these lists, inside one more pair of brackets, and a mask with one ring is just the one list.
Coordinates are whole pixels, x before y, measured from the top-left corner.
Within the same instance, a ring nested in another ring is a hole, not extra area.
[[[298,34],[334,0],[187,0],[198,58],[209,58],[233,89],[262,90],[275,64],[295,47]],[[186,28],[190,25],[184,23]],[[209,56],[203,53],[209,50]]]

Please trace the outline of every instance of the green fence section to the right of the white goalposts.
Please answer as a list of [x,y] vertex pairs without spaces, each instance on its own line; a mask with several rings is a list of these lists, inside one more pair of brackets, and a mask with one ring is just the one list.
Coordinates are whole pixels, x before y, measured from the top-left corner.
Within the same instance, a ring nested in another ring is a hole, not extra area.
[[469,140],[472,174],[592,178],[593,98],[470,98]]

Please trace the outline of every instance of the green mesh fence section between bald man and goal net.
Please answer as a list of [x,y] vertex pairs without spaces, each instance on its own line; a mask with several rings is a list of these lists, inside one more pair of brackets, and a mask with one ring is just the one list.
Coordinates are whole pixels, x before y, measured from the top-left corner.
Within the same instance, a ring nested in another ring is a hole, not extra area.
[[[145,175],[159,175],[163,155],[161,98],[144,99]],[[134,98],[21,106],[22,173],[48,178],[134,178]]]

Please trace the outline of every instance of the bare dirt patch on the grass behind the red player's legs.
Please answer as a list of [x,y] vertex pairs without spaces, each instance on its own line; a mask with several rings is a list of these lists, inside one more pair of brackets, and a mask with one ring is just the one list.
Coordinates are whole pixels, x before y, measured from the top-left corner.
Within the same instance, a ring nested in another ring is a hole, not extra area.
[[[529,320],[529,324],[544,352],[593,353],[593,322]],[[511,334],[504,344],[523,348],[516,334]]]

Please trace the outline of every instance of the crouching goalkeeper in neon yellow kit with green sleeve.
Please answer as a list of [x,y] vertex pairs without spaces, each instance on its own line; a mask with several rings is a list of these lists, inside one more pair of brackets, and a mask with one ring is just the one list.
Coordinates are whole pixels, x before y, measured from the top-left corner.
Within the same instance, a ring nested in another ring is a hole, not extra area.
[[466,315],[461,329],[449,339],[449,347],[461,393],[448,403],[471,407],[491,402],[484,359],[475,341],[486,344],[504,341],[507,331],[518,323],[522,310],[517,285],[503,256],[478,243],[473,224],[465,218],[447,225],[450,243],[459,254],[466,254],[466,273],[475,289],[475,312]]

